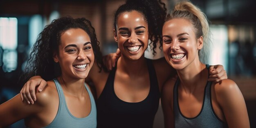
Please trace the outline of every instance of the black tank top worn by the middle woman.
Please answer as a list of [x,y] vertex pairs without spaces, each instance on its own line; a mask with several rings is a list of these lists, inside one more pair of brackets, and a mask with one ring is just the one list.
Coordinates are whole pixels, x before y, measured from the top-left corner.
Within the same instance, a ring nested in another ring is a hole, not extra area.
[[122,101],[114,91],[116,67],[97,99],[97,128],[152,128],[159,105],[160,92],[155,68],[147,59],[150,90],[146,99],[136,103]]

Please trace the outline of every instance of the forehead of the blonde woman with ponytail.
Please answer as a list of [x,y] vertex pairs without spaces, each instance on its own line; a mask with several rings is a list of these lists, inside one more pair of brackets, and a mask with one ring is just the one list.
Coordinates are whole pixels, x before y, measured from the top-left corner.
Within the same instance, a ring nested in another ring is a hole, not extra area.
[[178,18],[171,19],[164,23],[163,26],[163,35],[164,34],[175,34],[175,33],[183,33],[183,32],[193,32],[194,28],[189,22],[189,20]]

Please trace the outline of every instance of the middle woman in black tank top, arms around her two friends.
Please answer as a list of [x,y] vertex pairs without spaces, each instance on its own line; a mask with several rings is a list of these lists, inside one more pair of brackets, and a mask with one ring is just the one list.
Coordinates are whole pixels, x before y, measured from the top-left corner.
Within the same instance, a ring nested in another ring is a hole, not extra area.
[[[95,85],[97,94],[98,128],[152,128],[159,106],[162,85],[175,72],[164,58],[149,60],[144,57],[148,40],[153,49],[161,42],[161,31],[166,14],[160,0],[128,0],[115,13],[115,40],[121,51],[117,66],[110,72],[99,72],[93,66],[86,81]],[[225,79],[223,67],[218,66],[214,79]],[[224,77],[222,77],[224,76]],[[35,81],[43,81],[35,77]],[[38,82],[40,83],[40,82]],[[33,101],[36,84],[28,82],[21,92],[26,101]],[[44,84],[38,88],[43,89]],[[32,88],[29,92],[28,88]],[[32,96],[30,96],[30,93]],[[27,94],[27,95],[26,95]],[[29,100],[28,100],[29,99]]]

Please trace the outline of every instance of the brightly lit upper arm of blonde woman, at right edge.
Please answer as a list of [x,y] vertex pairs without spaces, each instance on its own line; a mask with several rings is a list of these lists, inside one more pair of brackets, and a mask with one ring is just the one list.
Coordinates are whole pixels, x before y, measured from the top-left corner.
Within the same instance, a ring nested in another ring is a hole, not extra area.
[[215,85],[216,98],[230,128],[249,128],[249,117],[243,94],[236,83],[225,79]]

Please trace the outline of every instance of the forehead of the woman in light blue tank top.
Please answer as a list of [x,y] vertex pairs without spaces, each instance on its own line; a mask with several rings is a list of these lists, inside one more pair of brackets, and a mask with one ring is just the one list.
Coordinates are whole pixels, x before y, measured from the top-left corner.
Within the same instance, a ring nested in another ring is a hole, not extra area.
[[83,29],[68,29],[61,35],[61,44],[90,42],[90,36]]

